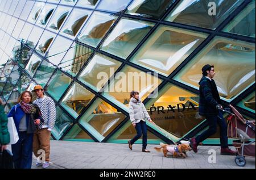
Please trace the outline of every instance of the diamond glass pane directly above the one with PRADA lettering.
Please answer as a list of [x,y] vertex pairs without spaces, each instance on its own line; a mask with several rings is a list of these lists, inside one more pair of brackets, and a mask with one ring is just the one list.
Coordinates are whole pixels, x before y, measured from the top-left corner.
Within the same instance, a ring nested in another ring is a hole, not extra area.
[[168,76],[206,37],[194,31],[160,26],[131,62]]

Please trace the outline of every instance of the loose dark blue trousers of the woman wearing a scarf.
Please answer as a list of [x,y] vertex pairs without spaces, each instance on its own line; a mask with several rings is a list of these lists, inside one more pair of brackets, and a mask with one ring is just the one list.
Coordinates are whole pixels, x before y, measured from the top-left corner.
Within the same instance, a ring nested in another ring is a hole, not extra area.
[[11,145],[14,166],[16,169],[31,169],[33,133],[18,132],[19,140]]

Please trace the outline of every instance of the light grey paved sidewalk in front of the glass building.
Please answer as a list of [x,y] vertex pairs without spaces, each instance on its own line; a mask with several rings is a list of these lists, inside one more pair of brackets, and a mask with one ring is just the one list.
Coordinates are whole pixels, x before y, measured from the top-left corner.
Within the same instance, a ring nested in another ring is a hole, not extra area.
[[[51,141],[49,169],[255,169],[255,158],[246,157],[245,167],[239,167],[234,162],[235,156],[220,155],[219,146],[199,146],[198,153],[188,152],[185,159],[163,157],[163,153],[154,150],[159,145],[148,145],[151,153],[142,152],[141,146],[134,144],[133,150],[130,150],[127,144]],[[209,149],[216,150],[216,163],[208,163]],[[32,168],[36,168],[35,164],[36,158],[33,157]]]

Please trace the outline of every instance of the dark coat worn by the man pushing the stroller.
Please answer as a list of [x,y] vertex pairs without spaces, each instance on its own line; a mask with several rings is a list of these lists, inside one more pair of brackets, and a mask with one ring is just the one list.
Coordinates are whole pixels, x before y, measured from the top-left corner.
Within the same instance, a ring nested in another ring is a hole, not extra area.
[[207,77],[202,77],[199,82],[200,100],[199,114],[202,116],[217,116],[216,106],[221,104],[220,95],[214,80],[210,81]]

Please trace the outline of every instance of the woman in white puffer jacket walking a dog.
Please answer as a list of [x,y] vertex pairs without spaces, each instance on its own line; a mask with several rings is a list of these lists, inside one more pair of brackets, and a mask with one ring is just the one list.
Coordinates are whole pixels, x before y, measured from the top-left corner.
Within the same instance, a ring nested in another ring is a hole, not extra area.
[[128,141],[129,148],[132,150],[132,145],[137,141],[142,135],[142,152],[149,153],[150,151],[146,149],[147,147],[147,125],[146,120],[153,123],[148,112],[139,99],[139,93],[137,91],[131,91],[129,103],[129,114],[130,120],[137,131],[137,135]]

